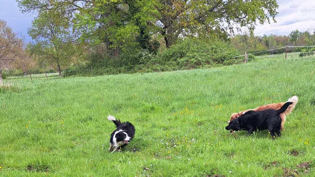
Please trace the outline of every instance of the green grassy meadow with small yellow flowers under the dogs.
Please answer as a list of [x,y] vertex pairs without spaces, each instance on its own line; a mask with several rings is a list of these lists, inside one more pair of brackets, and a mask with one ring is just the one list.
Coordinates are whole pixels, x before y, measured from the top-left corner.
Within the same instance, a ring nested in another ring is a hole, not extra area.
[[[21,91],[0,93],[0,176],[315,176],[314,72],[315,58],[290,56],[203,70],[14,78]],[[299,102],[281,138],[228,136],[233,112],[293,95]],[[112,154],[108,114],[136,128]]]

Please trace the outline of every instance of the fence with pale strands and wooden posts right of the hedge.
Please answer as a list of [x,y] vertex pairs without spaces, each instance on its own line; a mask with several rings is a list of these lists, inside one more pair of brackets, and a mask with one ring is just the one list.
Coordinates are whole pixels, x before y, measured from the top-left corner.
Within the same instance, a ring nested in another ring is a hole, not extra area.
[[[270,50],[255,52],[255,53],[249,53],[249,54],[247,54],[247,52],[245,52],[244,55],[239,55],[239,56],[235,56],[235,57],[232,57],[232,58],[238,58],[238,57],[243,57],[243,56],[245,56],[245,59],[237,60],[237,61],[245,61],[245,63],[246,63],[247,60],[259,59],[259,58],[270,58],[270,57],[283,56],[283,55],[285,55],[285,58],[286,58],[287,55],[294,55],[294,54],[307,54],[307,53],[314,53],[314,54],[315,54],[315,51],[311,51],[311,52],[295,52],[295,53],[288,53],[288,52],[287,52],[287,49],[288,49],[288,48],[295,48],[295,47],[300,47],[300,48],[302,48],[302,47],[315,47],[315,46],[285,46],[285,47],[280,47],[280,48],[276,48],[276,49],[270,49]],[[257,56],[257,57],[255,57],[255,58],[247,58],[248,55],[259,54],[259,53],[263,53],[263,52],[268,52],[268,51],[273,51],[273,50],[278,50],[278,49],[284,49],[284,48],[286,48],[284,54],[275,54],[275,55],[268,55],[268,56]],[[231,58],[231,59],[232,59],[232,58]]]

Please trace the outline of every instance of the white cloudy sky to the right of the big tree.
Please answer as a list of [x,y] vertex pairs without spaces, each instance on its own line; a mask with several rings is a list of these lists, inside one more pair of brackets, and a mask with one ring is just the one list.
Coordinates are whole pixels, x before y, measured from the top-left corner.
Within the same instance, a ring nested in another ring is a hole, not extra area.
[[257,25],[255,35],[264,34],[288,35],[298,29],[306,31],[315,29],[315,1],[314,0],[278,0],[279,14],[277,23]]

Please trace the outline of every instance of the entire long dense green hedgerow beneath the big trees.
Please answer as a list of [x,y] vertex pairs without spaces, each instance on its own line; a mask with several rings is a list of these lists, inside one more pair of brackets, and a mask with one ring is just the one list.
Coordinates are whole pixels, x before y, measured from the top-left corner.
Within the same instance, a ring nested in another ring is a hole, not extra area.
[[239,51],[227,42],[191,38],[182,40],[157,55],[146,49],[130,49],[116,58],[92,53],[87,64],[71,66],[63,72],[63,75],[65,77],[96,76],[210,68],[238,63],[239,59],[231,58],[239,54]]

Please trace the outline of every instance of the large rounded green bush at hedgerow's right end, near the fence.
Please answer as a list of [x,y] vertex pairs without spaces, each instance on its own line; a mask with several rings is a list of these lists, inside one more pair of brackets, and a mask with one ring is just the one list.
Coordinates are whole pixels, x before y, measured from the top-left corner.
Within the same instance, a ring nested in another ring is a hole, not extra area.
[[226,42],[192,38],[171,46],[157,58],[161,65],[173,65],[175,69],[193,69],[233,64],[235,60],[231,58],[237,55],[238,50]]

